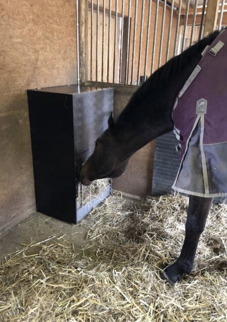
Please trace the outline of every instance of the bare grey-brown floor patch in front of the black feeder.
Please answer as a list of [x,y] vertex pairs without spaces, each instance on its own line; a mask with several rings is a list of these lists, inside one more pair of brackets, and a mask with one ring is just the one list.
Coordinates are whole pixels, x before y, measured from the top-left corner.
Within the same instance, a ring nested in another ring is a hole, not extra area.
[[73,243],[75,251],[79,252],[86,238],[86,231],[80,224],[68,224],[40,212],[34,212],[15,227],[0,234],[0,259],[21,249],[23,245],[40,243],[54,236]]

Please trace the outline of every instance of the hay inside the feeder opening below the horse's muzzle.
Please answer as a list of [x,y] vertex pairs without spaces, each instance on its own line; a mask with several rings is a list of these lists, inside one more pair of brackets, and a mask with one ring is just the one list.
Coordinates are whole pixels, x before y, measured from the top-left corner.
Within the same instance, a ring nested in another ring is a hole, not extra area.
[[90,186],[82,186],[78,184],[78,197],[77,205],[78,208],[88,203],[92,199],[99,197],[101,193],[104,193],[109,185],[110,179],[101,179],[94,181]]

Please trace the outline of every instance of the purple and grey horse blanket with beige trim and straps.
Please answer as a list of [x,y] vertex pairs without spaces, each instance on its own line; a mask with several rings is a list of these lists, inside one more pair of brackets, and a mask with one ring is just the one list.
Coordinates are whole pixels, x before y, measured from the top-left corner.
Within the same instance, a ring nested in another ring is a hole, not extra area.
[[227,29],[203,51],[172,119],[181,160],[172,188],[202,197],[227,195]]

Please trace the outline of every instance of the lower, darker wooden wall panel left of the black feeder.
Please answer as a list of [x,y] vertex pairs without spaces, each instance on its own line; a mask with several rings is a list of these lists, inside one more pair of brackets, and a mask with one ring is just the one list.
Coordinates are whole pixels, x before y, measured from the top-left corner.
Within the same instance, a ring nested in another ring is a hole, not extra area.
[[0,228],[35,208],[28,112],[0,113]]

